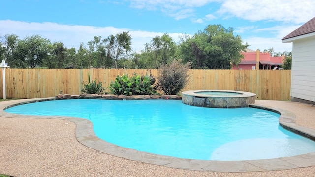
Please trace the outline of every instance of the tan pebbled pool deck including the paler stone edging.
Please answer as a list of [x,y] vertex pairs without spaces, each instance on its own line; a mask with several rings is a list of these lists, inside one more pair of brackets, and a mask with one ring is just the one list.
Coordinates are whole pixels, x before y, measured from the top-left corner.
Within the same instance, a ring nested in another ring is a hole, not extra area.
[[[9,105],[35,100],[40,99],[0,102],[0,174],[15,177],[315,176],[315,152],[267,160],[206,161],[208,165],[205,165],[199,160],[154,156],[107,144],[94,135],[92,123],[84,119],[23,116],[3,111]],[[254,105],[289,110],[287,116],[292,116],[292,112],[296,118],[284,118],[284,123],[302,131],[315,131],[314,105],[268,100],[256,100]],[[150,164],[156,162],[158,165]]]

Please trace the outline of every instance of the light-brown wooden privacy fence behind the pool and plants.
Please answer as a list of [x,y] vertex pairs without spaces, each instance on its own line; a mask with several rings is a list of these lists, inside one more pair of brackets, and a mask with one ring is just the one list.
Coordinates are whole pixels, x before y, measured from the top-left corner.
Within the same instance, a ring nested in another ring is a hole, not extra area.
[[[157,69],[150,71],[158,78]],[[150,71],[146,69],[6,69],[6,98],[55,97],[61,92],[80,94],[82,83],[88,81],[88,73],[92,80],[97,79],[107,87],[118,74],[149,75]],[[291,99],[291,70],[189,70],[189,74],[189,84],[183,91],[237,90],[255,93],[256,99]],[[0,79],[1,98],[3,98],[2,86],[2,79]]]

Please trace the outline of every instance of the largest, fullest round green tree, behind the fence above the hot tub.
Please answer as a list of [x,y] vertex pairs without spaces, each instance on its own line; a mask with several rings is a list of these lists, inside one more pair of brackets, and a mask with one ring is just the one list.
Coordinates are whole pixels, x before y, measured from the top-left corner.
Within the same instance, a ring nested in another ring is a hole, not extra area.
[[233,28],[208,25],[203,31],[198,31],[193,37],[183,41],[180,46],[186,47],[181,51],[192,54],[190,58],[193,59],[191,62],[194,68],[230,69],[231,63],[241,61],[240,52],[249,46],[242,43],[240,36],[234,36]]

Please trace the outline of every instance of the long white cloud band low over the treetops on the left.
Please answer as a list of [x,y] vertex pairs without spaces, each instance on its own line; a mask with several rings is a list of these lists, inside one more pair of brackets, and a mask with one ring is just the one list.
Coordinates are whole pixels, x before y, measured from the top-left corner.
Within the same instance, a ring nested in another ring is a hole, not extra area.
[[[116,35],[119,32],[129,31],[132,37],[132,49],[140,51],[144,49],[144,44],[149,43],[153,37],[161,36],[161,32],[138,31],[127,28],[115,27],[94,27],[79,25],[63,25],[51,22],[34,23],[19,22],[12,20],[0,20],[0,36],[5,34],[16,34],[23,39],[26,36],[40,35],[49,39],[51,42],[63,42],[67,48],[78,48],[83,42],[87,45],[88,41],[94,39],[94,36]],[[179,41],[181,33],[168,33],[174,41]]]

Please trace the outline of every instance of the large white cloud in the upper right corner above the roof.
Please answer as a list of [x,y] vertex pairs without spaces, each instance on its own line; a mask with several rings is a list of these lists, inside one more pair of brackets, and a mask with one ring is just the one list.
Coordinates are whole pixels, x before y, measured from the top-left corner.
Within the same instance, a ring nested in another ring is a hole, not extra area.
[[301,24],[315,16],[314,0],[224,0],[217,13],[250,21]]

